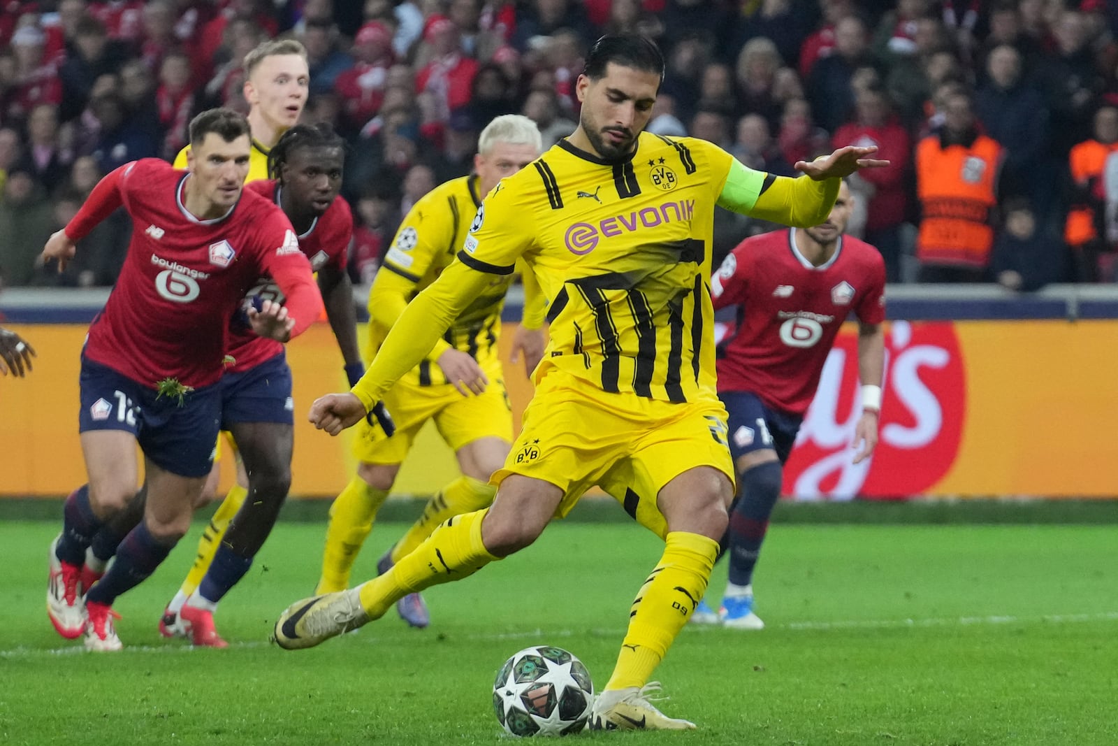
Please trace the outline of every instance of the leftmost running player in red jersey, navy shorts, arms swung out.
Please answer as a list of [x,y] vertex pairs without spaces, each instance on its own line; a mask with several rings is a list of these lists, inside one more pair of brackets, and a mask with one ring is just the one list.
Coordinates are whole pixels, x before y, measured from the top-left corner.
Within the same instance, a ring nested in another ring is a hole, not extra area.
[[[285,342],[322,310],[311,264],[275,204],[244,191],[250,139],[245,117],[209,110],[190,123],[187,171],[144,159],[98,182],[44,261],[59,267],[75,243],[123,206],[133,232],[121,276],[89,327],[82,352],[79,432],[88,483],[66,500],[51,544],[47,610],[65,638],[91,650],[121,649],[112,604],[151,575],[187,532],[212,465],[221,418],[229,319],[260,276],[286,296],[248,311],[253,331]],[[86,548],[133,499],[135,446],[144,454],[143,520],[116,561],[80,587]]]

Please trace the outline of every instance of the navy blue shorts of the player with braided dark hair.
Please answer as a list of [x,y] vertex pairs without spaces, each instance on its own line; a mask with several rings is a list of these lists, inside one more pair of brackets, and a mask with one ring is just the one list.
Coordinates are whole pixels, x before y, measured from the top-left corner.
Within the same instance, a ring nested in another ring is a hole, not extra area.
[[295,424],[295,400],[291,396],[291,368],[281,352],[255,368],[227,372],[221,389],[221,429],[234,423]]

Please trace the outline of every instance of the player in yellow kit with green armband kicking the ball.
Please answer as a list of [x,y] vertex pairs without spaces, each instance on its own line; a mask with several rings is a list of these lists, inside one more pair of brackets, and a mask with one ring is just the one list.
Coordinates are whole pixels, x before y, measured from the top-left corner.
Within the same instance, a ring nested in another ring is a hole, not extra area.
[[[474,218],[458,261],[411,302],[364,377],[310,418],[337,434],[356,424],[423,358],[494,278],[523,257],[550,299],[551,340],[536,396],[492,507],[444,522],[387,573],[300,601],[276,622],[287,649],[379,618],[399,598],[461,579],[527,547],[593,484],[664,539],[637,593],[593,728],[693,728],[650,700],[655,667],[702,598],[727,526],[733,463],[714,390],[710,240],[714,205],[800,227],[822,223],[840,179],[874,148],[842,148],[783,178],[720,148],[642,132],[663,79],[656,46],[599,39],[576,92],[579,125],[504,179]],[[481,378],[464,381],[481,390]]]

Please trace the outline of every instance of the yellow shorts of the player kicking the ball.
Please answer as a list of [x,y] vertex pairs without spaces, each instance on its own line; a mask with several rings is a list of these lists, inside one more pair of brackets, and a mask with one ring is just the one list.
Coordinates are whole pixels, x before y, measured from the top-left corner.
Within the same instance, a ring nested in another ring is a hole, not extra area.
[[656,495],[695,466],[711,466],[733,483],[726,408],[711,393],[672,404],[632,393],[607,394],[552,368],[537,381],[520,437],[491,478],[510,474],[550,482],[563,491],[562,518],[597,484],[642,526],[663,538],[667,526]]

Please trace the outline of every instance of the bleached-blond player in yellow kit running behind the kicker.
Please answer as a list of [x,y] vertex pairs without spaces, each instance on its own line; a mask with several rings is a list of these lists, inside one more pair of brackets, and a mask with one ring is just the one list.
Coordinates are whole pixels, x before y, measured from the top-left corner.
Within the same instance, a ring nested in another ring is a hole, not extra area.
[[[369,293],[369,355],[375,355],[408,302],[430,285],[449,265],[465,240],[482,199],[504,177],[534,161],[542,150],[536,123],[520,114],[498,116],[482,130],[474,157],[474,173],[436,187],[415,204],[396,233],[385,263]],[[524,274],[524,321],[515,332],[514,355],[536,367],[546,342],[543,304],[531,292],[534,278]],[[354,453],[357,475],[330,509],[322,577],[315,593],[349,587],[350,570],[377,511],[407,456],[419,429],[434,419],[447,445],[454,448],[462,476],[443,488],[423,516],[378,563],[386,572],[408,555],[444,520],[487,507],[496,489],[490,475],[504,463],[512,443],[512,413],[504,388],[498,338],[501,309],[512,275],[494,275],[418,366],[385,395],[396,434],[364,421],[359,426]],[[481,375],[490,385],[479,395],[463,396],[462,380]],[[429,615],[418,593],[397,604],[410,625],[425,627]]]

